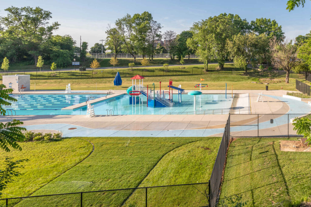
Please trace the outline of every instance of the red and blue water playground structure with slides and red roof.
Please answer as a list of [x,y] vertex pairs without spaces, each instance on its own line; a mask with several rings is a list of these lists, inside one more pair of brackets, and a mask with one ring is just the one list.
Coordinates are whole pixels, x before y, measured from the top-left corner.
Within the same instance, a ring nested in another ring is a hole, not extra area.
[[[152,84],[152,87],[147,85],[143,85],[144,77],[140,75],[136,75],[131,78],[132,79],[132,86],[128,87],[126,90],[127,94],[129,95],[129,104],[135,105],[136,104],[143,104],[143,97],[147,98],[146,104],[147,107],[174,107],[175,103],[173,101],[173,89],[178,91],[178,102],[181,102],[181,94],[184,92],[184,89],[179,87],[173,86],[173,80],[169,80],[169,88],[168,91],[161,90],[161,82],[160,83],[160,90],[155,90],[155,83]],[[134,82],[135,80],[135,82]],[[137,85],[136,80],[139,80],[139,84]]]

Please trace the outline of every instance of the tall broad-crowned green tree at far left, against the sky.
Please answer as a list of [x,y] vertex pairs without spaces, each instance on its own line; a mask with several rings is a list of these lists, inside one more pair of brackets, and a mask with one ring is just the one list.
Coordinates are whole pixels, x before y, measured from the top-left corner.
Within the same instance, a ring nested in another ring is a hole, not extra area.
[[34,58],[37,65],[37,58],[44,50],[45,42],[60,24],[49,24],[52,13],[40,7],[12,6],[5,11],[7,16],[0,17],[0,25],[4,27],[2,36],[8,41],[17,41],[17,44]]

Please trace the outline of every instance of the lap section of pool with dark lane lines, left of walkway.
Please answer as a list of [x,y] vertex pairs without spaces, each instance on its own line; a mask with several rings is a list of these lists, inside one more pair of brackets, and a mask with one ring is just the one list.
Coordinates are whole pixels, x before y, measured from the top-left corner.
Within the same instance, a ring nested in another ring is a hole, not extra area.
[[[14,110],[16,115],[70,115],[74,112],[61,109],[104,97],[106,94],[12,94],[10,96],[17,101],[3,108]],[[8,111],[8,114],[11,115],[11,112]]]

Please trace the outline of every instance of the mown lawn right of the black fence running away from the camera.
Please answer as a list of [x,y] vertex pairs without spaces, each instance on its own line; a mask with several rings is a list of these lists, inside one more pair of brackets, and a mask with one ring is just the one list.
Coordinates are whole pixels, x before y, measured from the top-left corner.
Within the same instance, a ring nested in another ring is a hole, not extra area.
[[[311,200],[308,152],[280,151],[280,138],[240,138],[231,143],[221,198],[242,196],[247,206],[299,206]],[[290,140],[297,140],[291,138]]]

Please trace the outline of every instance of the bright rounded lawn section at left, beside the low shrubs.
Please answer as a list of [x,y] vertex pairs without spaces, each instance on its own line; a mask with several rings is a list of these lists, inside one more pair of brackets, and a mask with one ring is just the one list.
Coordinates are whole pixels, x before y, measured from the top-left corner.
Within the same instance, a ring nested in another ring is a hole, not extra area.
[[79,163],[93,150],[90,142],[78,138],[63,139],[58,142],[22,142],[22,151],[0,150],[0,160],[5,156],[14,160],[29,159],[18,169],[22,174],[2,191],[2,198],[29,196],[57,176]]

